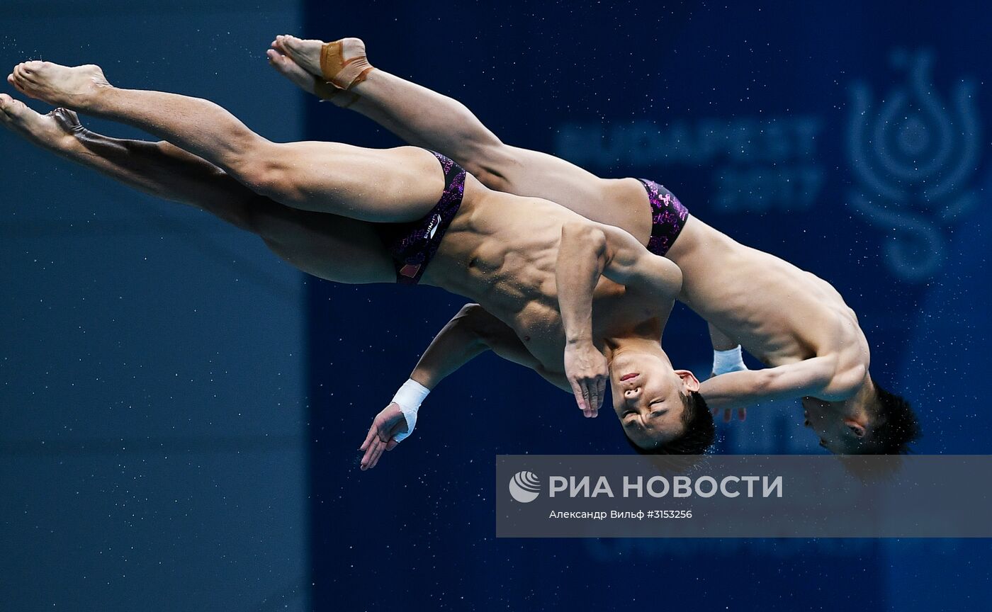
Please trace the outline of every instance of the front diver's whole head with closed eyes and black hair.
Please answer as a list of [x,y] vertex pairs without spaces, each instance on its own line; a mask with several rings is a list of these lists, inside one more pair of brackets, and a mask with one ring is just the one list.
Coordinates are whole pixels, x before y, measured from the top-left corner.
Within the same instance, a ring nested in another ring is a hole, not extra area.
[[613,411],[642,454],[701,454],[713,443],[713,416],[699,381],[664,352],[618,350],[610,362]]

